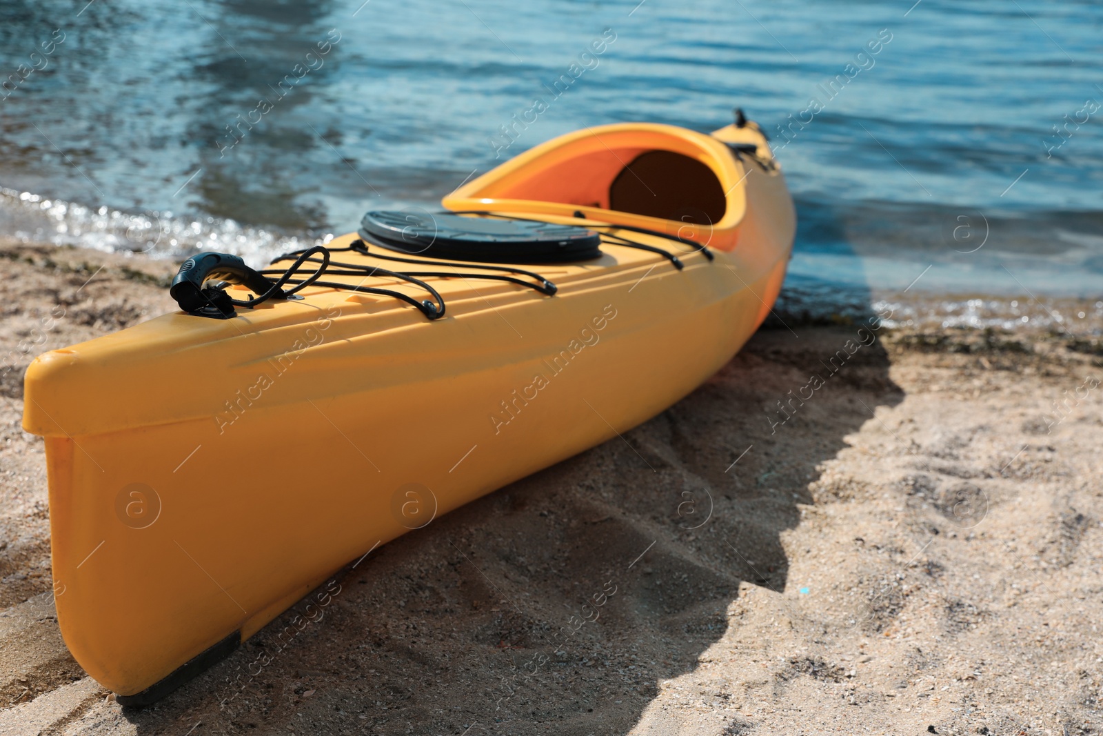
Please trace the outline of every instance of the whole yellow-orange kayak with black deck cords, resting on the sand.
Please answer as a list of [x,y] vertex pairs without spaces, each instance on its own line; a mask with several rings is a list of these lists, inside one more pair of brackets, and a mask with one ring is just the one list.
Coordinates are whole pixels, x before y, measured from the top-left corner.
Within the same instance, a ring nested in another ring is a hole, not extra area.
[[368,213],[263,271],[199,254],[180,311],[28,369],[57,620],[124,704],[685,396],[769,313],[795,227],[742,119],[588,128],[443,204]]

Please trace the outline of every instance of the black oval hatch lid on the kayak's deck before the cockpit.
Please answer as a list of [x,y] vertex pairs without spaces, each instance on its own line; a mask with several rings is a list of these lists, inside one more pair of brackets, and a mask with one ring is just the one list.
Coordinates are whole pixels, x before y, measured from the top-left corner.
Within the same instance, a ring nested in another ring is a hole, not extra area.
[[593,231],[523,220],[374,211],[361,221],[360,235],[392,250],[453,260],[571,263],[601,256],[601,236]]

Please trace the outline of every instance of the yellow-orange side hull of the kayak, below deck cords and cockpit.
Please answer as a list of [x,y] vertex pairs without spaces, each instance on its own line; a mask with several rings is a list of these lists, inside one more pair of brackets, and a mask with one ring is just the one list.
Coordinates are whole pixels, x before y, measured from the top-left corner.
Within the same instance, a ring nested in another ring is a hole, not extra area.
[[792,203],[780,172],[758,173],[741,184],[740,246],[683,255],[682,270],[610,248],[560,269],[552,298],[449,279],[448,317],[431,322],[312,289],[40,358],[24,426],[46,436],[57,617],[76,660],[141,703],[378,545],[692,392],[784,278]]

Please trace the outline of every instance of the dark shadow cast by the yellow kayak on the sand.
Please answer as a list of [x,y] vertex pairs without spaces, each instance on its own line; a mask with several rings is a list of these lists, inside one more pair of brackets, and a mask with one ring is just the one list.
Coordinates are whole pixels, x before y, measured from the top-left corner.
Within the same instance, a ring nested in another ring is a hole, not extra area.
[[641,724],[658,684],[739,626],[740,585],[792,593],[781,534],[821,463],[902,398],[868,307],[781,303],[666,412],[375,550],[125,717],[181,734],[658,727]]

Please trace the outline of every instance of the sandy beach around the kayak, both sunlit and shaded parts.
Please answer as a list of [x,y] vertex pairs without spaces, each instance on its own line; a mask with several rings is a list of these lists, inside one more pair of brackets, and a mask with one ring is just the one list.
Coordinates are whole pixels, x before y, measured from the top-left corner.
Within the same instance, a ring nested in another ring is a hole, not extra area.
[[1103,729],[1103,351],[882,331],[771,427],[855,324],[760,331],[623,439],[375,551],[312,620],[300,604],[124,710],[57,630],[21,376],[169,309],[170,266],[0,255],[0,734]]

